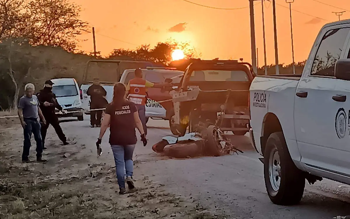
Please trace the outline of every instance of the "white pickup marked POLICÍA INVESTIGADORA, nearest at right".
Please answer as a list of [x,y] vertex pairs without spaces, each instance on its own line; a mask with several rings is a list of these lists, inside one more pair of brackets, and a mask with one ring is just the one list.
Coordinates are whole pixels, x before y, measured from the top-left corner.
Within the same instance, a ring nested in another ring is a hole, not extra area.
[[305,179],[350,185],[349,48],[350,20],[326,24],[301,76],[258,75],[250,86],[251,141],[274,204],[299,203]]

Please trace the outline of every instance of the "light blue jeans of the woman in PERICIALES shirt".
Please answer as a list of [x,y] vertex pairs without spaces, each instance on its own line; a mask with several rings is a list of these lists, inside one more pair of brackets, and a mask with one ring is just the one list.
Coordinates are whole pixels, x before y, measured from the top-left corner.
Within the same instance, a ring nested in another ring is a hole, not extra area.
[[132,155],[135,145],[111,145],[114,161],[116,162],[116,173],[119,188],[125,188],[125,173],[126,177],[132,177],[134,163]]

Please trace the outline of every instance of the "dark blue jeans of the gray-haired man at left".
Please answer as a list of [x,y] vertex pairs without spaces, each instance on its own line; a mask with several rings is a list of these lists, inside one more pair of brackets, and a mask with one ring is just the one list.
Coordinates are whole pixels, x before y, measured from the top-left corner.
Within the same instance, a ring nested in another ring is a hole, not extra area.
[[37,119],[29,119],[29,118],[24,118],[24,122],[26,123],[26,126],[23,129],[24,141],[23,141],[22,160],[28,159],[29,150],[31,147],[30,139],[31,139],[32,133],[36,141],[36,157],[41,158],[43,153],[43,148],[42,148],[42,140],[41,140],[41,134],[40,134],[40,128],[41,128],[40,122],[38,122]]

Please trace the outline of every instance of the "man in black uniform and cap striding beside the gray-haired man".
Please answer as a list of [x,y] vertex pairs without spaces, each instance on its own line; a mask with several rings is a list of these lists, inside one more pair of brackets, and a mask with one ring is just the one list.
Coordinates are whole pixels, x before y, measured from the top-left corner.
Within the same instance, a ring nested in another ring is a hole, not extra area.
[[52,93],[53,84],[54,83],[51,80],[45,81],[44,89],[40,90],[39,93],[36,94],[38,101],[40,102],[40,109],[46,120],[46,124],[42,124],[40,130],[43,149],[47,149],[47,147],[45,147],[45,137],[50,124],[52,127],[54,127],[56,134],[58,135],[59,140],[63,142],[63,145],[69,144],[62,131],[61,126],[59,125],[57,115],[55,114],[55,108],[57,108],[59,111],[62,111],[63,113],[65,113],[65,111],[57,103],[56,95]]

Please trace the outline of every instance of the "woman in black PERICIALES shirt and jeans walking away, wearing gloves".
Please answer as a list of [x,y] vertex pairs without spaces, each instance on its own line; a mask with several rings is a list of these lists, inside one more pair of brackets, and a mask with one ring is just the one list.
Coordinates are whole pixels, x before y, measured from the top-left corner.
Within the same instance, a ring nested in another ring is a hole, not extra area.
[[[97,145],[101,144],[101,139],[110,127],[109,143],[112,147],[114,161],[116,162],[116,172],[119,184],[119,194],[125,194],[125,181],[129,190],[135,188],[132,180],[133,161],[132,156],[137,142],[135,127],[141,134],[144,146],[147,144],[145,132],[137,108],[134,103],[125,100],[125,86],[117,83],[113,88],[113,101],[107,105],[106,112],[102,120]],[[124,168],[125,164],[125,168]],[[126,173],[126,180],[125,180]]]

